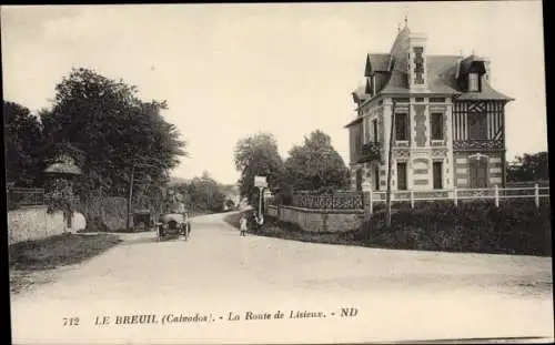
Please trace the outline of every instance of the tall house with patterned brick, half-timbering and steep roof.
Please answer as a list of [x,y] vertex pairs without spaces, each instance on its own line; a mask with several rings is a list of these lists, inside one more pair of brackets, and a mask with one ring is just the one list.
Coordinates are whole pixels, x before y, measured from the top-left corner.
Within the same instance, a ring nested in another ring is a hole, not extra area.
[[353,93],[353,189],[384,191],[390,136],[393,191],[505,185],[505,104],[490,83],[490,60],[427,54],[426,35],[406,26],[390,53],[370,53],[366,83]]

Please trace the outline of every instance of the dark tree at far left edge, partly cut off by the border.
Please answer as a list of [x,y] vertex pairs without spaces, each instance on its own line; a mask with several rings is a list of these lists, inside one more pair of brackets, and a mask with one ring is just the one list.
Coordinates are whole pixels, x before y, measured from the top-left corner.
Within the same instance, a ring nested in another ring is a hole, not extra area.
[[7,182],[16,186],[41,186],[46,165],[39,119],[14,102],[3,102],[3,116]]

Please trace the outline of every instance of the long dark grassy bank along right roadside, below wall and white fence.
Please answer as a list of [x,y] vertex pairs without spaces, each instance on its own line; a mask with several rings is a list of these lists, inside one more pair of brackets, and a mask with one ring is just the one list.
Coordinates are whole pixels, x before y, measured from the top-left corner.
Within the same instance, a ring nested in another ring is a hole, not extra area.
[[[552,256],[551,205],[536,207],[531,202],[512,201],[495,207],[490,202],[418,204],[415,209],[401,205],[392,214],[392,226],[385,226],[384,215],[374,217],[360,229],[342,233],[312,233],[294,223],[278,222],[265,216],[265,224],[252,222],[252,211],[245,212],[250,230],[256,235],[301,242],[357,245],[376,248],[417,250]],[[239,227],[241,214],[225,221]]]

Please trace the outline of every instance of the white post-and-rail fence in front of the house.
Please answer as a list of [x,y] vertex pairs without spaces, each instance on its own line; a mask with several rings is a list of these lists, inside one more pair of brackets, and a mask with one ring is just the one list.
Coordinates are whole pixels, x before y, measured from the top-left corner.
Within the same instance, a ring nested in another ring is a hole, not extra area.
[[[385,203],[385,191],[369,191],[370,192],[370,211],[376,203]],[[534,199],[534,203],[539,207],[541,199],[549,197],[549,187],[535,184],[533,187],[498,187],[493,189],[451,189],[451,190],[434,190],[434,191],[391,191],[392,203],[410,202],[411,207],[414,207],[416,202],[434,202],[434,201],[453,201],[458,205],[460,201],[465,200],[493,200],[496,206],[500,206],[502,200],[509,199]]]

